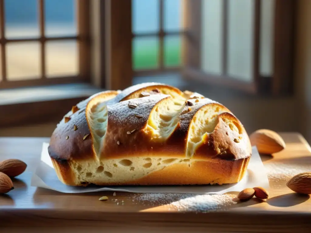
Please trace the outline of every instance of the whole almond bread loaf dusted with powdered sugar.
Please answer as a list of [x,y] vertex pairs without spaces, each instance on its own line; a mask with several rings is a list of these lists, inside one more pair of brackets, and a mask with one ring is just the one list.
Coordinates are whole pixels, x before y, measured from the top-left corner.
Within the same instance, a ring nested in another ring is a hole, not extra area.
[[59,180],[74,186],[236,183],[251,153],[248,134],[229,109],[161,83],[78,103],[49,144]]

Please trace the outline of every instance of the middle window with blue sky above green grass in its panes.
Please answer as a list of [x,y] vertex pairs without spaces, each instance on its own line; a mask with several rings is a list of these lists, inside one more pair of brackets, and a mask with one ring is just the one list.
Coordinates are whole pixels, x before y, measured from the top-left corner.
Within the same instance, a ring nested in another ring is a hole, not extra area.
[[134,75],[180,70],[182,13],[183,0],[132,0]]

